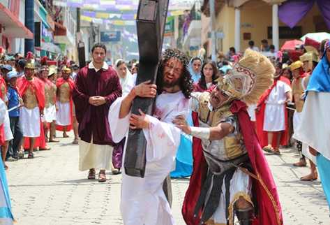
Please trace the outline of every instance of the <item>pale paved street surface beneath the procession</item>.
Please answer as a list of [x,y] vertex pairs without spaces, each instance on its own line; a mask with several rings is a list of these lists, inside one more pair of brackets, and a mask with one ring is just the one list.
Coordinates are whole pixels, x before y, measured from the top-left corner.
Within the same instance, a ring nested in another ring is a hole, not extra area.
[[[78,146],[70,144],[71,137],[73,133],[70,138],[58,138],[60,143],[50,143],[50,151],[35,152],[34,159],[8,162],[17,225],[123,224],[119,211],[121,175],[109,172],[105,183],[87,180],[87,171],[78,170]],[[267,160],[278,185],[284,224],[330,224],[320,180],[300,182],[299,177],[306,175],[308,168],[292,166],[299,158],[297,151],[287,149],[282,153],[267,155]],[[179,225],[185,224],[181,205],[188,182],[172,180],[172,211]]]

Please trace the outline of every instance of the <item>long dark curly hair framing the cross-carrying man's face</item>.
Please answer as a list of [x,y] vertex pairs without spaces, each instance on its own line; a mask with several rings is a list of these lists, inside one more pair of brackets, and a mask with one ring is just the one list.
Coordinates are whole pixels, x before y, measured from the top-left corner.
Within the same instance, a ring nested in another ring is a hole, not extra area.
[[[163,92],[163,77],[164,77],[164,67],[167,60],[163,60],[160,62],[160,65],[158,67],[158,73],[157,73],[157,93],[161,94]],[[193,79],[191,78],[191,75],[188,71],[187,66],[183,66],[183,71],[181,73],[181,77],[179,80],[179,87],[183,93],[183,95],[186,97],[186,99],[190,98],[191,92],[193,92]]]

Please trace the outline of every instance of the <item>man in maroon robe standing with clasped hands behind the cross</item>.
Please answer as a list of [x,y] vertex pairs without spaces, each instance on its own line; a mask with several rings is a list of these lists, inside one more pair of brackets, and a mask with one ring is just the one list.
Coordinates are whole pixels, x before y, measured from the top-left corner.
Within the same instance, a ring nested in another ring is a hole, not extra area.
[[105,170],[112,167],[112,135],[107,115],[111,104],[121,96],[117,72],[105,63],[107,49],[96,43],[91,49],[93,60],[77,73],[73,101],[79,122],[80,170],[89,170],[89,179],[105,182]]

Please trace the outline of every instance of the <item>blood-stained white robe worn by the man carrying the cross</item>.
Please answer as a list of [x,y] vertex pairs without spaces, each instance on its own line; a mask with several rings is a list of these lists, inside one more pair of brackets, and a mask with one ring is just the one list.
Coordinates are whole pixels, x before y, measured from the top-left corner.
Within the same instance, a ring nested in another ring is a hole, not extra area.
[[[117,99],[109,111],[109,123],[114,142],[127,136],[130,114],[119,119],[123,97]],[[177,115],[187,116],[189,100],[182,92],[160,94],[156,99],[155,117],[147,115],[149,129],[143,129],[147,139],[144,178],[123,173],[121,184],[121,215],[125,225],[175,224],[170,205],[163,191],[163,182],[174,168],[181,131],[172,124]],[[157,119],[157,118],[159,119]],[[126,139],[127,140],[127,139]],[[123,159],[125,158],[124,147]]]

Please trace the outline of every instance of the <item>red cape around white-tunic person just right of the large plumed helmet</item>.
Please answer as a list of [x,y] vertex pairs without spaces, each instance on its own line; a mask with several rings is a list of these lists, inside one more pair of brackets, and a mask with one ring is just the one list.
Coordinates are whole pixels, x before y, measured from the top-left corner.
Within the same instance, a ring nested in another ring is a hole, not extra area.
[[[283,77],[283,75],[280,76],[277,80],[274,80],[273,85],[267,89],[264,94],[260,97],[260,100],[257,103],[257,106],[260,107],[259,112],[255,113],[256,117],[256,122],[255,126],[257,129],[257,137],[259,138],[260,145],[261,147],[267,146],[268,145],[268,137],[267,137],[267,131],[264,131],[264,110],[266,109],[266,100],[268,99],[269,94],[271,94],[271,90],[276,87],[276,84],[278,80],[287,83],[287,85],[291,86],[290,80]],[[280,145],[287,145],[289,141],[289,126],[287,122],[287,108],[286,106],[283,106],[283,113],[285,117],[285,131],[282,133],[280,136]],[[275,133],[273,135],[273,140],[271,142],[271,146],[273,147],[278,147],[276,146],[276,140],[278,140],[278,133]]]

